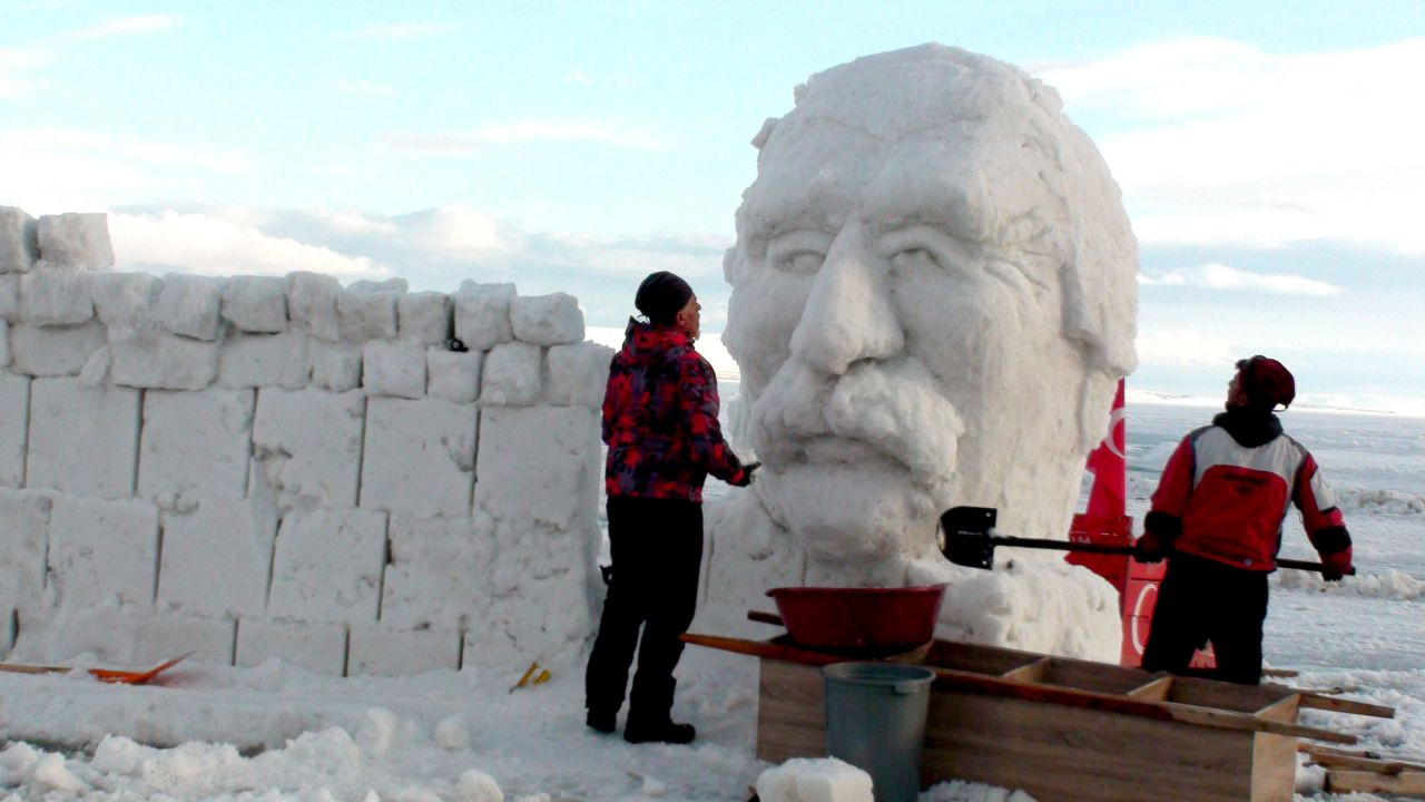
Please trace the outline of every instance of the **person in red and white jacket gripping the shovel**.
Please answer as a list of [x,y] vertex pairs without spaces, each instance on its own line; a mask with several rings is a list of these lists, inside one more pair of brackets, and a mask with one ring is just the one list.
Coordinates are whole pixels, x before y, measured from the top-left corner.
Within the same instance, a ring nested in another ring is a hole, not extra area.
[[1277,404],[1295,398],[1295,380],[1277,360],[1237,362],[1227,411],[1178,444],[1163,468],[1136,544],[1146,562],[1171,554],[1159,587],[1143,668],[1180,674],[1211,641],[1216,676],[1261,681],[1267,575],[1277,568],[1287,505],[1321,555],[1322,577],[1352,574],[1351,535],[1311,454],[1281,431]]

